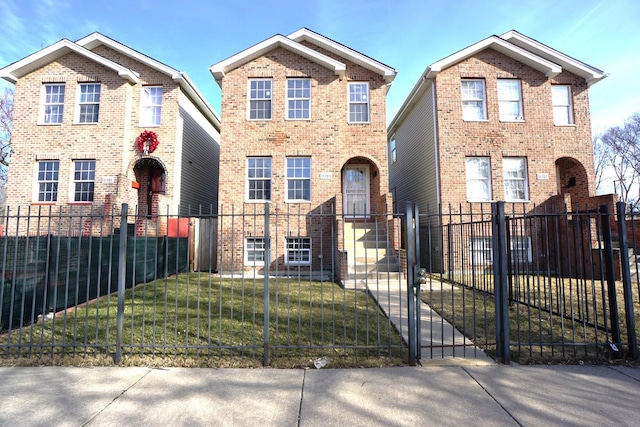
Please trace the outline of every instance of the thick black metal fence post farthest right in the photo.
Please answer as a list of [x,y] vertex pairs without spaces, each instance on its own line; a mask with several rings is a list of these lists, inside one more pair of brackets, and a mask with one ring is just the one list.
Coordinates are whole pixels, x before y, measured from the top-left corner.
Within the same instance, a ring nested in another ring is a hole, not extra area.
[[616,203],[618,211],[618,235],[620,236],[620,265],[622,267],[622,289],[624,295],[624,315],[627,324],[627,342],[629,355],[638,360],[638,340],[636,336],[636,318],[633,310],[633,291],[631,289],[631,270],[629,268],[629,238],[625,218],[626,205]]

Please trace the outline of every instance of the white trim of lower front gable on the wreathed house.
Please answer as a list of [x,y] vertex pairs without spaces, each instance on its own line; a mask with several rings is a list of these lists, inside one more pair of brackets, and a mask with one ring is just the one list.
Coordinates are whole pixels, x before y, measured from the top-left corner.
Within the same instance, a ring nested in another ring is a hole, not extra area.
[[98,64],[117,72],[120,77],[131,83],[135,84],[139,81],[140,75],[135,71],[95,54],[67,39],[62,39],[51,46],[45,47],[42,50],[32,53],[31,55],[0,69],[0,77],[15,84],[19,78],[71,52],[84,56],[91,61],[97,62]]

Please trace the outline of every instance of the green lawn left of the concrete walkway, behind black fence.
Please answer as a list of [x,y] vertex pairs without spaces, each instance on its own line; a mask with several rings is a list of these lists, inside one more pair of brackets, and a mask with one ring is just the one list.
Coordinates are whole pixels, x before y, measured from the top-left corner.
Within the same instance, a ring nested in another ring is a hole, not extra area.
[[[400,336],[367,293],[270,281],[269,365],[403,363]],[[122,365],[262,366],[264,283],[190,273],[125,292]],[[0,335],[0,364],[113,364],[117,298],[107,295]],[[29,346],[29,344],[32,344]]]

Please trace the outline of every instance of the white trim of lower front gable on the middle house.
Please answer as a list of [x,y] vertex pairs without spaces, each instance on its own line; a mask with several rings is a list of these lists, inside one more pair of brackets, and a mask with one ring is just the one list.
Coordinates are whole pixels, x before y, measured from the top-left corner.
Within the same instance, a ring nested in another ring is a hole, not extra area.
[[345,74],[347,66],[342,62],[336,61],[333,58],[323,55],[280,34],[277,34],[248,49],[243,50],[240,53],[237,53],[223,61],[220,61],[217,64],[212,65],[211,67],[209,67],[209,71],[211,72],[211,74],[213,74],[216,82],[220,84],[220,81],[227,72],[258,58],[277,47],[282,47],[284,49],[290,50],[300,56],[309,59],[310,61],[333,70],[334,73],[340,77],[343,77]]

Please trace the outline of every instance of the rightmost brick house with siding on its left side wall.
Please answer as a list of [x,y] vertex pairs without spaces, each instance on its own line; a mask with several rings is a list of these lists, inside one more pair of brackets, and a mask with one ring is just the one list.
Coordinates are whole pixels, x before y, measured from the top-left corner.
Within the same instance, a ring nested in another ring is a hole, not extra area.
[[[584,209],[595,200],[588,89],[606,76],[516,31],[431,64],[388,127],[398,210],[441,208],[441,226],[483,219],[498,200],[523,214]],[[491,263],[489,235],[458,242],[468,262]],[[514,242],[531,262],[530,233]],[[448,244],[421,238],[424,265],[446,269]]]

